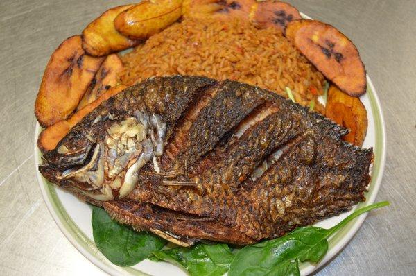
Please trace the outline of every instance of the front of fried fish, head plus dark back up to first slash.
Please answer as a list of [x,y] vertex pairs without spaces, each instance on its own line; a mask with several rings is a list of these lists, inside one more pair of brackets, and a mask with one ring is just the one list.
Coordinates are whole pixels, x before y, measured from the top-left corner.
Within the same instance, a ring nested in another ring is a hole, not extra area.
[[173,76],[150,78],[125,89],[88,114],[55,150],[46,153],[40,172],[92,202],[127,196],[141,167],[151,160],[157,166],[171,122],[200,89],[215,83],[204,77]]

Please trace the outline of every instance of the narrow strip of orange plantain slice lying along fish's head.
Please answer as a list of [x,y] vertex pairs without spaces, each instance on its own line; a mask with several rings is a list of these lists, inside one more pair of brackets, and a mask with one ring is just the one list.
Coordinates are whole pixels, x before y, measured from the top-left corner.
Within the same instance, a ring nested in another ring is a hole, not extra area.
[[118,94],[123,89],[127,88],[125,85],[117,85],[105,91],[100,97],[98,97],[92,103],[85,105],[83,109],[78,110],[74,113],[71,118],[66,121],[58,121],[52,126],[44,129],[39,138],[37,139],[37,147],[45,153],[46,151],[53,150],[59,141],[67,135],[69,130],[73,128],[77,123],[79,123],[89,112],[92,112],[98,105],[108,98]]

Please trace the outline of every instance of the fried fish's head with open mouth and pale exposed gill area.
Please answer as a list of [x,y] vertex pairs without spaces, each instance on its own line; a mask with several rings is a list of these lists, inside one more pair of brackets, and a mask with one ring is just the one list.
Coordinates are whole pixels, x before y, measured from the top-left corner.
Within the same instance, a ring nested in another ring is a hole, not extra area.
[[39,170],[60,187],[93,200],[117,200],[134,189],[150,160],[159,170],[166,123],[157,114],[97,117],[73,128],[46,153]]

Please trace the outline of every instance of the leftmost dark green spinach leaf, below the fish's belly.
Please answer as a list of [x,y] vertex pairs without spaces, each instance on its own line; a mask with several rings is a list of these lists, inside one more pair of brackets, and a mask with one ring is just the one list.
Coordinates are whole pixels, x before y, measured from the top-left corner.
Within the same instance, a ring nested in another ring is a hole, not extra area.
[[114,221],[104,209],[92,209],[92,233],[103,255],[117,266],[132,266],[160,250],[167,243],[159,236],[137,232]]

